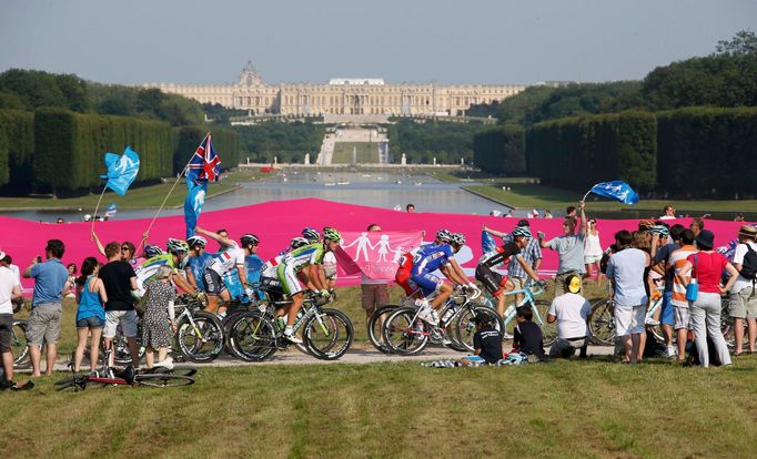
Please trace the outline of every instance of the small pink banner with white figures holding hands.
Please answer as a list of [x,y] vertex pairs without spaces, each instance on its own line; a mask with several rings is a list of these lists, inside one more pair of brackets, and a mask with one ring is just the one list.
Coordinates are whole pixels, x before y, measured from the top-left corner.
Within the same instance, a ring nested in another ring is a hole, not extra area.
[[[421,245],[421,232],[342,232],[342,249],[372,279],[394,280],[400,257]],[[343,265],[340,265],[343,267]],[[351,269],[340,269],[346,276]]]

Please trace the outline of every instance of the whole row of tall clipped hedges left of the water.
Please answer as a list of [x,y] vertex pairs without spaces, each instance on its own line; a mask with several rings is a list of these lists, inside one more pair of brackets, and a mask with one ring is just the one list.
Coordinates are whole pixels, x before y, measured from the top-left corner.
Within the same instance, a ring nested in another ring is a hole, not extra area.
[[[87,193],[103,183],[103,154],[121,154],[127,145],[140,154],[137,182],[155,182],[180,172],[205,133],[203,126],[59,108],[0,110],[0,193]],[[236,133],[212,129],[211,134],[224,169],[236,166]]]

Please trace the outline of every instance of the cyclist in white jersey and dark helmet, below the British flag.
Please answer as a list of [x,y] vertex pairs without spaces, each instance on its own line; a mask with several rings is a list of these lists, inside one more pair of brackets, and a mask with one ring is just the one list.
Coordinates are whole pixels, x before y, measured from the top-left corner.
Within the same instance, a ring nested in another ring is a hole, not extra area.
[[[243,249],[240,248],[239,244],[234,239],[228,236],[222,236],[219,233],[212,231],[206,231],[201,227],[194,228],[195,233],[203,234],[221,245],[221,251],[212,255],[205,264],[205,269],[202,273],[202,280],[205,284],[205,293],[208,294],[208,306],[205,310],[210,313],[215,313],[219,310],[219,317],[224,317],[226,313],[225,304],[231,300],[231,295],[229,289],[223,282],[223,276],[236,268],[240,282],[243,286],[248,286],[248,275],[244,269],[244,257],[252,253],[251,247],[256,246],[260,239],[254,234],[245,234],[240,237]],[[246,288],[245,293],[248,295],[252,294],[252,290]],[[223,304],[219,307],[219,297],[223,300]]]

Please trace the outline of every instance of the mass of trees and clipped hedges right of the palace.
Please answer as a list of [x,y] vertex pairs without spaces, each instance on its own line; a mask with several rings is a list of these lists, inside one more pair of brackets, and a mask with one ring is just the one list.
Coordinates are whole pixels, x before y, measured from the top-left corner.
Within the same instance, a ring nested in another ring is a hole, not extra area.
[[502,124],[476,135],[475,164],[514,175],[525,162],[575,190],[620,178],[679,197],[757,196],[756,105],[757,38],[739,32],[642,82],[532,86],[489,105]]

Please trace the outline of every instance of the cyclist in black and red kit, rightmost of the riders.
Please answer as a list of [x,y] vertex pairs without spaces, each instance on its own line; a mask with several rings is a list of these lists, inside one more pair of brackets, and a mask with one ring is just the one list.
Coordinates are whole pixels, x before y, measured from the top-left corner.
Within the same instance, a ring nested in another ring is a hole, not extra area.
[[515,285],[508,280],[506,276],[494,272],[493,269],[495,267],[502,266],[505,262],[511,259],[511,257],[515,257],[514,261],[521,265],[528,277],[539,282],[536,272],[534,272],[521,254],[521,251],[528,246],[528,242],[532,238],[531,230],[528,226],[516,226],[515,230],[513,230],[512,236],[512,242],[505,243],[501,247],[496,247],[494,251],[485,253],[478,259],[478,266],[476,266],[476,280],[481,282],[484,285],[484,288],[486,288],[492,296],[497,298],[497,313],[503,317],[505,315],[505,294],[515,289]]

